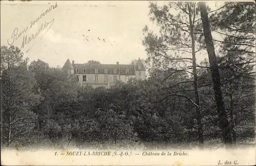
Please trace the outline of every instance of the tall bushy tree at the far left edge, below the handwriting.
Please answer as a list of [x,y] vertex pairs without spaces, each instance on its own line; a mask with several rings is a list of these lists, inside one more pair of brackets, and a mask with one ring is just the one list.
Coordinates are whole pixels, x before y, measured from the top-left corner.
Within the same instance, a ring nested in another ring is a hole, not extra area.
[[8,146],[20,141],[34,127],[31,108],[40,103],[40,94],[32,92],[36,84],[32,73],[27,69],[27,59],[13,45],[1,46],[1,121],[3,140]]

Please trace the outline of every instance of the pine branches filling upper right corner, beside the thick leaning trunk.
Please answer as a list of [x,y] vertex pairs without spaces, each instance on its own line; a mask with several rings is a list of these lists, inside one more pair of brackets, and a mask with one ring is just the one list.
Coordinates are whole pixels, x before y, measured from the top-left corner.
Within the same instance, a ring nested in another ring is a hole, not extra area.
[[255,54],[255,3],[225,3],[209,19],[212,31],[224,38],[223,41],[214,39],[222,51],[247,54],[246,59],[254,61],[251,58]]

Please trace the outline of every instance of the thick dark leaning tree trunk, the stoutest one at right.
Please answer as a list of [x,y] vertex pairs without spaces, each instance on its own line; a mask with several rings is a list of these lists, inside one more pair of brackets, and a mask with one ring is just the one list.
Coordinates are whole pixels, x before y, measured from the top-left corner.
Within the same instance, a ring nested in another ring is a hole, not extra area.
[[219,116],[219,127],[221,128],[221,131],[222,131],[222,137],[224,139],[226,149],[232,149],[231,125],[229,125],[229,122],[227,120],[227,113],[226,113],[225,105],[222,98],[220,73],[219,73],[218,63],[216,60],[214,43],[212,42],[206,3],[200,2],[199,4],[200,4],[201,18],[203,22],[206,49],[208,52],[209,63],[210,63],[211,78],[214,83],[215,100],[216,100],[217,111]]

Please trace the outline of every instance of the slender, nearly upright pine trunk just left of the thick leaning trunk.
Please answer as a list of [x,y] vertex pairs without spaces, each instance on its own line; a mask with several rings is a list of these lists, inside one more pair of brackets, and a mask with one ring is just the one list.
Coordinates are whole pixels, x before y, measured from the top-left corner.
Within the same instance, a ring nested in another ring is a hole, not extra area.
[[[194,4],[195,5],[195,4]],[[198,77],[197,77],[197,64],[196,64],[196,53],[195,53],[195,37],[194,37],[194,21],[191,19],[191,8],[190,4],[187,3],[188,14],[189,14],[189,27],[190,27],[190,37],[192,42],[192,60],[193,60],[193,76],[194,76],[194,89],[195,89],[195,99],[196,99],[196,112],[197,112],[197,125],[198,125],[198,139],[199,148],[204,149],[204,135],[203,135],[203,124],[201,115],[200,98],[198,92]],[[194,16],[195,17],[195,16]]]

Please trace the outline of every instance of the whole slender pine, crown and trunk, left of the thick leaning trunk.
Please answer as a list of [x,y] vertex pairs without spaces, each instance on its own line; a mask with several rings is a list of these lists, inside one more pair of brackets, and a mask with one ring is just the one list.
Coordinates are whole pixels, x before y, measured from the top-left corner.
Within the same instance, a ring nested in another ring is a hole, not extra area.
[[[170,10],[173,9],[176,10],[177,14],[170,13]],[[151,20],[156,21],[160,27],[160,36],[154,35],[152,31],[148,30],[147,26],[143,29],[146,35],[143,44],[146,46],[148,59],[152,60],[153,68],[169,72],[163,82],[177,72],[186,72],[193,75],[193,81],[182,81],[177,85],[181,85],[178,87],[189,94],[190,89],[182,87],[183,83],[193,83],[195,99],[190,97],[187,99],[192,101],[196,108],[198,138],[200,148],[203,149],[203,124],[201,123],[201,105],[197,84],[198,65],[196,64],[196,53],[204,45],[200,43],[201,31],[198,30],[201,26],[200,19],[198,19],[199,8],[196,3],[168,3],[168,5],[161,8],[151,3],[150,14],[152,16]],[[192,58],[188,57],[190,55]],[[190,63],[192,66],[189,65]],[[169,87],[169,89],[172,88]],[[178,93],[177,95],[179,96]]]

